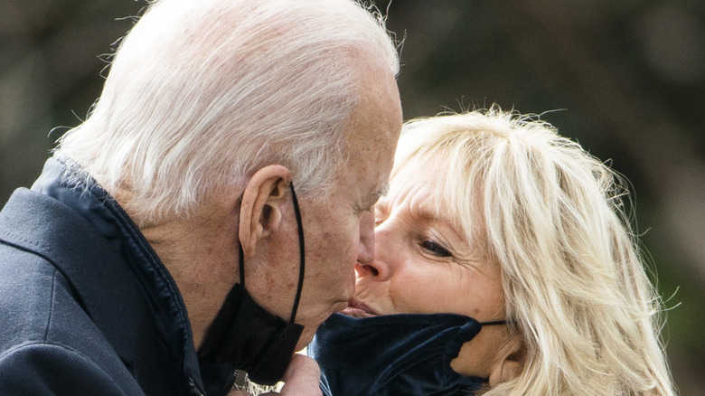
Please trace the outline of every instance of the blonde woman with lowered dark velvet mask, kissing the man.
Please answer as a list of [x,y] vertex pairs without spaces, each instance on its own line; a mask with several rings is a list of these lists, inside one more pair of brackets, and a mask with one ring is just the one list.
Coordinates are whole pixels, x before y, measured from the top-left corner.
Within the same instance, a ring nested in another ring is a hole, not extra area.
[[309,346],[324,393],[673,394],[606,165],[497,107],[408,122],[395,161],[376,257]]

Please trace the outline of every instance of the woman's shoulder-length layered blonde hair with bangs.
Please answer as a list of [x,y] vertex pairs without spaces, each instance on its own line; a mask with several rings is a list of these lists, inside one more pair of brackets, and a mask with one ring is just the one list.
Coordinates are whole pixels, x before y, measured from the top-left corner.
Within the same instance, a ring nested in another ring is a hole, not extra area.
[[662,302],[625,214],[623,180],[538,120],[489,110],[403,128],[392,177],[436,161],[439,202],[502,269],[521,375],[487,395],[672,395]]

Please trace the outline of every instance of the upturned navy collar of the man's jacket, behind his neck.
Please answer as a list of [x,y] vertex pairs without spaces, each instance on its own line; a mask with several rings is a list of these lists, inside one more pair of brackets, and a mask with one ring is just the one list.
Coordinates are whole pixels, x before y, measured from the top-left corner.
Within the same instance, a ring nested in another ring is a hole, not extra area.
[[[134,350],[139,332],[126,332],[125,324],[118,322],[136,312],[148,313],[188,380],[203,389],[181,294],[127,213],[87,174],[70,174],[54,158],[46,162],[32,189],[42,194],[19,191],[15,193],[19,199],[7,203],[14,207],[7,212],[26,220],[16,238],[7,235],[6,239],[21,247],[29,244],[26,249],[61,269],[86,312],[126,362],[139,353]],[[44,243],[31,243],[23,235]]]

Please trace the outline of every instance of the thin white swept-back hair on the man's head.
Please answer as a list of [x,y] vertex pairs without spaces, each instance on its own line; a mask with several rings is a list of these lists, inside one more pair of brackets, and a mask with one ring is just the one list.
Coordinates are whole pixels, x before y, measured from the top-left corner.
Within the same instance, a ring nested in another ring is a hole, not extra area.
[[399,71],[383,20],[353,0],[160,0],[55,156],[126,192],[138,225],[188,216],[270,164],[325,196],[361,60]]

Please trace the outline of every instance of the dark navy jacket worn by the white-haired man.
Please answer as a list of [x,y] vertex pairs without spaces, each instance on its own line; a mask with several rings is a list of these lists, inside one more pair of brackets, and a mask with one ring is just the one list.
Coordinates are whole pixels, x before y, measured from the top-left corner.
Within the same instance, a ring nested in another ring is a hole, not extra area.
[[178,289],[127,213],[50,159],[0,212],[0,395],[199,395]]

